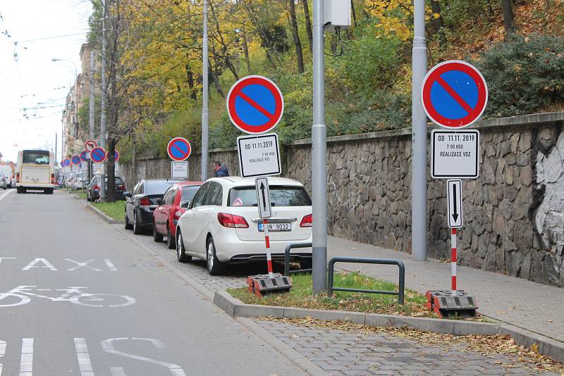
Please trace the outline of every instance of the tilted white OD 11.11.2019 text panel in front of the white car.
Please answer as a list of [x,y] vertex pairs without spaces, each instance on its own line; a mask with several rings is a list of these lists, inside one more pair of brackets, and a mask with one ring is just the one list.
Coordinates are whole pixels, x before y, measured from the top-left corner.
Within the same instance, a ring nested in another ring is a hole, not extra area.
[[280,149],[276,133],[237,138],[242,177],[280,175]]

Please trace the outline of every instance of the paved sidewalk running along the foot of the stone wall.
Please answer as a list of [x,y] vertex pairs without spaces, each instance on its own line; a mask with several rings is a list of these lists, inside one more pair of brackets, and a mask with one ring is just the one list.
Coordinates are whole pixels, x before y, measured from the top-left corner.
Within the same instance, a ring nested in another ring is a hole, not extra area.
[[[409,253],[352,242],[328,239],[327,258],[355,256],[398,258],[405,263],[405,287],[424,293],[450,289],[450,262],[413,261]],[[396,266],[336,263],[336,268],[360,271],[381,280],[398,282]],[[508,324],[564,342],[564,289],[458,265],[458,288],[478,301],[479,312]]]

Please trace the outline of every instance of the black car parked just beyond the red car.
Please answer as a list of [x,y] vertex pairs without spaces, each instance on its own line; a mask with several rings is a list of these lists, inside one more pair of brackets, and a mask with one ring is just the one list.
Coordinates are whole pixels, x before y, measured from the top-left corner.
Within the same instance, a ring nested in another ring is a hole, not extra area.
[[180,180],[141,180],[125,194],[125,228],[134,234],[153,227],[153,211],[166,189]]

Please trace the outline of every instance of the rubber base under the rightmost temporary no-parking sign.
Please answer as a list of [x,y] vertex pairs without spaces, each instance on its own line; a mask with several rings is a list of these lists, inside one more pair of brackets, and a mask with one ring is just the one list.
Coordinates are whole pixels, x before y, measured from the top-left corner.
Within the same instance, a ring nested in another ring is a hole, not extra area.
[[474,318],[478,306],[472,296],[468,296],[464,290],[457,290],[456,296],[450,290],[428,291],[425,296],[425,306],[434,311],[439,318],[458,316],[459,318]]

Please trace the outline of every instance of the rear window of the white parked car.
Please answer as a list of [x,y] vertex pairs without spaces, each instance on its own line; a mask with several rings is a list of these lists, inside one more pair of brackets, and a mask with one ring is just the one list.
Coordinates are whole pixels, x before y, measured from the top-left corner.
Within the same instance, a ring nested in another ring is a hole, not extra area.
[[[311,206],[312,200],[303,187],[270,186],[272,206]],[[228,206],[257,206],[255,187],[237,187],[229,191]]]

